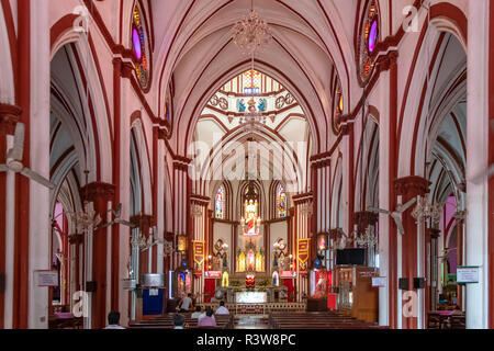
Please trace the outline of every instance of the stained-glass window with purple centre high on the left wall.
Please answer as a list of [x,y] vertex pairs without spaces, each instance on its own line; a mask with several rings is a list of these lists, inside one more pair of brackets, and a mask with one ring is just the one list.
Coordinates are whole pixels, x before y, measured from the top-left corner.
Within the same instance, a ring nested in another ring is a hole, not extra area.
[[132,49],[137,63],[135,64],[135,75],[143,90],[149,88],[150,53],[149,42],[145,25],[145,19],[136,2],[132,14]]

